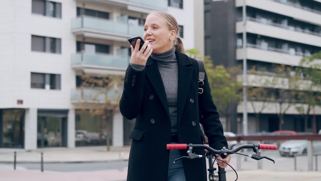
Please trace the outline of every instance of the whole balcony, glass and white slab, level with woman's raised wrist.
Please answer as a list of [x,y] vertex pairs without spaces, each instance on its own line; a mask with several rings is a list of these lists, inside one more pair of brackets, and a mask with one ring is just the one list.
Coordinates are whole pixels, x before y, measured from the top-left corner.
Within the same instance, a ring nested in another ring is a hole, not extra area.
[[76,53],[72,55],[72,68],[84,73],[125,75],[130,57],[103,53]]

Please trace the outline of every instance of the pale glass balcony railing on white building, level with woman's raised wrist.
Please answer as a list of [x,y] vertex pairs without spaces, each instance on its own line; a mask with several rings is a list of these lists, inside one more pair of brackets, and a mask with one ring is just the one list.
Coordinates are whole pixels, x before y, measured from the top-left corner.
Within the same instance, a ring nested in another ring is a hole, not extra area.
[[114,56],[103,53],[76,53],[72,55],[72,65],[98,65],[115,69],[126,69],[130,57],[126,55]]

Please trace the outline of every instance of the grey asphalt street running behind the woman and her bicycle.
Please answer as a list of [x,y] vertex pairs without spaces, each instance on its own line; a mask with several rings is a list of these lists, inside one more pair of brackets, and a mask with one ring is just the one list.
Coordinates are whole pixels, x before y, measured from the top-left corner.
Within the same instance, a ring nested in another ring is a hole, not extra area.
[[[247,153],[252,154],[252,153]],[[275,164],[272,161],[267,159],[262,160],[262,168],[267,170],[276,170],[276,171],[294,171],[294,157],[281,157],[278,151],[272,150],[262,150],[262,156],[267,156],[275,160]],[[318,157],[318,170],[321,170],[321,156]],[[230,165],[234,169],[237,168],[237,155],[233,154]],[[241,169],[242,170],[252,170],[257,169],[258,161],[241,156]],[[246,161],[244,160],[246,158]],[[315,157],[313,157],[314,170]],[[126,169],[128,166],[128,161],[103,161],[103,162],[75,162],[75,163],[44,163],[44,170],[46,171],[58,171],[58,172],[84,172],[84,171],[98,171],[98,170],[110,170],[110,169]],[[0,163],[0,168],[13,168],[13,164],[10,163]],[[31,170],[40,170],[40,163],[17,163],[17,168],[21,169],[31,169]],[[226,168],[227,171],[232,171],[230,167]],[[297,157],[297,171],[307,171],[308,162],[307,157]]]

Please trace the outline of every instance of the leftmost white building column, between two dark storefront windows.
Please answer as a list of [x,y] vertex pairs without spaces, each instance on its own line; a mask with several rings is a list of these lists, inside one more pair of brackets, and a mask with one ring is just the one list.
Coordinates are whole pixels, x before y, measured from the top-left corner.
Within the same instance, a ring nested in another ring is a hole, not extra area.
[[37,149],[37,108],[26,109],[24,149]]

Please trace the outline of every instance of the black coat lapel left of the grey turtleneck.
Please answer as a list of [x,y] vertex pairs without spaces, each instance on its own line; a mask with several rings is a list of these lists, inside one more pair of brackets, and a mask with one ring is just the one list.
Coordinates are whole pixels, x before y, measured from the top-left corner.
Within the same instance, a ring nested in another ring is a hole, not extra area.
[[152,84],[153,89],[155,90],[158,98],[160,99],[162,106],[166,110],[168,119],[170,120],[167,97],[166,97],[163,80],[161,79],[160,71],[158,70],[157,64],[155,60],[152,59],[152,57],[149,57],[146,62],[145,72],[149,81]]

